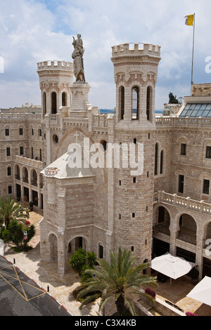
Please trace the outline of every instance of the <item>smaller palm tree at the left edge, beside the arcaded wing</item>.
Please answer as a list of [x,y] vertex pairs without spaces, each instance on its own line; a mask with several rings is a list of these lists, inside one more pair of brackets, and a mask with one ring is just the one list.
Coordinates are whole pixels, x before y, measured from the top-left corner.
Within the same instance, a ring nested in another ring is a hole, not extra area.
[[11,196],[0,197],[0,223],[7,228],[11,220],[18,220],[25,223],[29,216],[25,213],[25,208],[20,204],[15,204]]

